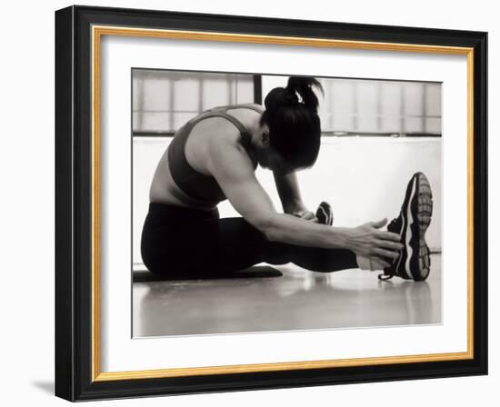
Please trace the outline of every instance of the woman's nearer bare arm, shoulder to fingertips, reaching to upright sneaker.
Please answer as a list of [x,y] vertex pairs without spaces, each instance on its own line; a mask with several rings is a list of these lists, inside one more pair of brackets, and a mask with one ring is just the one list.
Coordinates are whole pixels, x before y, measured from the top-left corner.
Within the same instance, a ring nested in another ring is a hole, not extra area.
[[375,223],[340,228],[305,221],[288,213],[277,213],[269,195],[258,183],[250,159],[238,144],[219,139],[209,144],[207,153],[209,170],[229,202],[270,241],[346,248],[366,256],[395,258],[399,255],[402,247],[396,243],[399,242],[399,235],[379,231]]

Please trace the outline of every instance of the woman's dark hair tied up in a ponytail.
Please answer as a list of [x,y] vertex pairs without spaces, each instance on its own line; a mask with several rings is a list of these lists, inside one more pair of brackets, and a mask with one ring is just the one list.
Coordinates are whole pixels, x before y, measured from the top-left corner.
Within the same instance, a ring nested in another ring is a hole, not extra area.
[[[288,163],[309,167],[315,164],[321,144],[321,122],[317,114],[313,77],[291,76],[285,87],[275,87],[265,96],[261,124],[269,126],[269,143]],[[299,100],[299,96],[301,100]]]

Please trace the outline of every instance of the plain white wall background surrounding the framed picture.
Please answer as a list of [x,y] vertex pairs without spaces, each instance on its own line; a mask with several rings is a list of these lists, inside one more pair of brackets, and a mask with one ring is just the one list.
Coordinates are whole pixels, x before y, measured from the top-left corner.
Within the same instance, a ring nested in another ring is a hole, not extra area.
[[[3,5],[2,174],[3,279],[2,316],[4,405],[68,405],[55,399],[54,377],[54,10],[67,1],[7,2]],[[359,0],[357,2],[235,2],[231,0],[91,0],[86,5],[171,9],[226,15],[260,15],[366,24],[432,26],[489,31],[490,72],[490,375],[427,381],[381,382],[310,387],[261,392],[233,392],[192,396],[89,402],[85,406],[254,406],[383,405],[454,407],[498,404],[500,357],[498,270],[500,227],[498,175],[494,160],[499,144],[495,113],[500,110],[498,79],[499,23],[495,2],[435,2]],[[30,124],[25,126],[24,124]],[[494,230],[495,228],[495,230]],[[494,239],[495,237],[495,239]],[[495,321],[494,321],[495,315]],[[300,344],[297,344],[297,346]],[[335,346],[333,343],[332,346]]]

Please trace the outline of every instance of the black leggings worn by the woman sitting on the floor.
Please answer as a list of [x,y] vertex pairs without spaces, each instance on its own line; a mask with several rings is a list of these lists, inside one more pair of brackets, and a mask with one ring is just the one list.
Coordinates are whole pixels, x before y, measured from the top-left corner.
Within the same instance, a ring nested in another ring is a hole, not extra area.
[[355,253],[270,242],[243,217],[220,218],[200,211],[149,204],[141,255],[153,273],[171,277],[232,273],[257,263],[295,263],[316,272],[357,268]]

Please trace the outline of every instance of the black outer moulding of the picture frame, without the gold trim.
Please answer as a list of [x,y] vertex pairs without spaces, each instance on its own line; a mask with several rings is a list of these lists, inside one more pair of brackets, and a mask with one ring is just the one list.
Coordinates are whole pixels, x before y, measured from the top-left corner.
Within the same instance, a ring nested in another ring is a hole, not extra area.
[[[474,359],[92,382],[91,25],[474,48]],[[487,373],[487,33],[70,6],[55,12],[55,395],[70,401]]]

